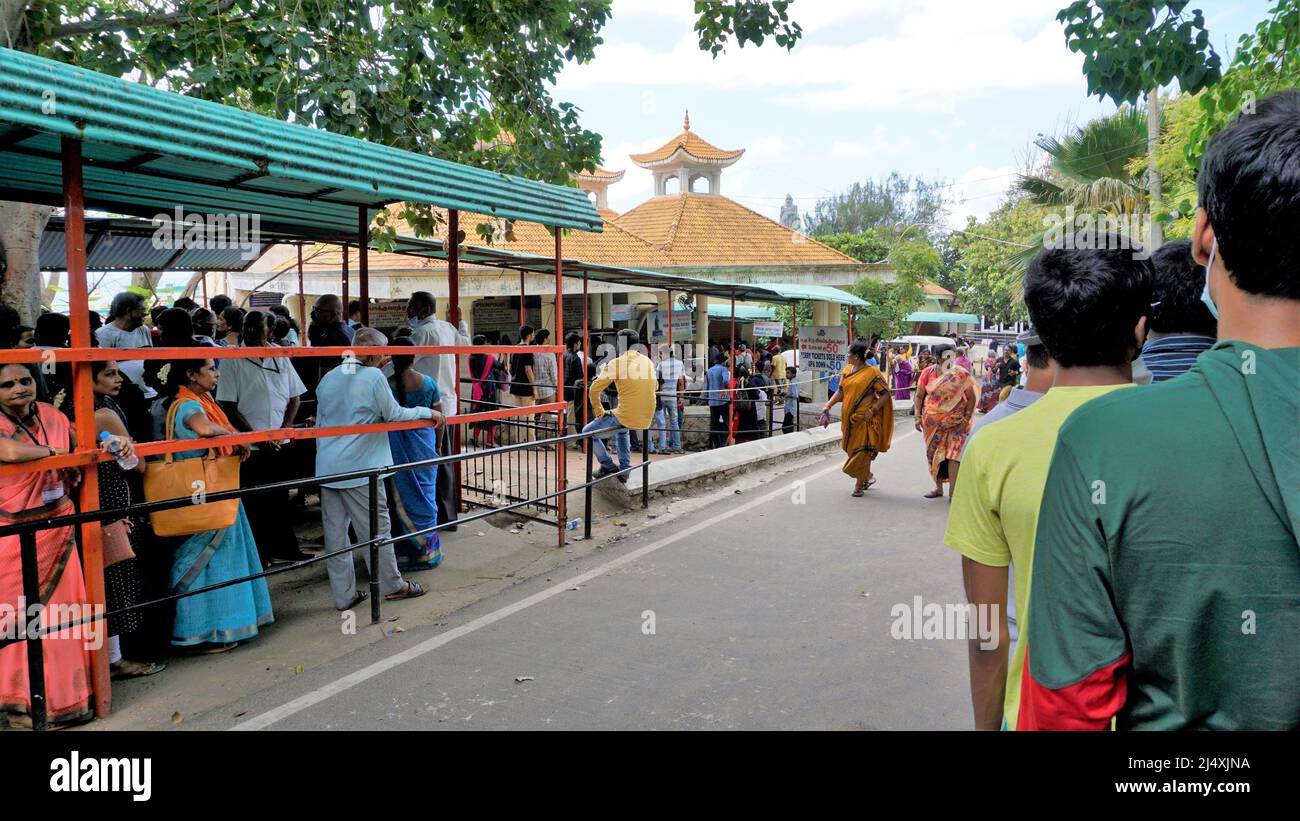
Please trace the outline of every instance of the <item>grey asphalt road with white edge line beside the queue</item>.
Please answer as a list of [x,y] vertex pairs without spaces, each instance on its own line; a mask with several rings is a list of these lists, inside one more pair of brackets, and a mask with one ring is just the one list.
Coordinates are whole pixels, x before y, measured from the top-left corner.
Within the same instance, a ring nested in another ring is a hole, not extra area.
[[838,464],[829,455],[186,726],[967,727],[965,644],[890,637],[894,604],[962,600],[941,544],[948,503],[920,498],[920,438],[900,425],[862,499]]

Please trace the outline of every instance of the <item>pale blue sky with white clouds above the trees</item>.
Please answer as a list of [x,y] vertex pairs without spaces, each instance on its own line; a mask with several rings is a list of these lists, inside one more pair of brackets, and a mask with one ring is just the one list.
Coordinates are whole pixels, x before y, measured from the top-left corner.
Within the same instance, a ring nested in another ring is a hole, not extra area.
[[[604,168],[625,169],[610,205],[653,194],[629,153],[692,130],[745,148],[722,192],[772,218],[892,170],[949,183],[950,222],[997,207],[1040,133],[1114,107],[1088,97],[1082,56],[1065,45],[1065,0],[794,0],[793,52],[772,43],[698,48],[690,0],[615,0],[604,43],[559,77],[604,139]],[[1225,64],[1271,0],[1200,0]]]

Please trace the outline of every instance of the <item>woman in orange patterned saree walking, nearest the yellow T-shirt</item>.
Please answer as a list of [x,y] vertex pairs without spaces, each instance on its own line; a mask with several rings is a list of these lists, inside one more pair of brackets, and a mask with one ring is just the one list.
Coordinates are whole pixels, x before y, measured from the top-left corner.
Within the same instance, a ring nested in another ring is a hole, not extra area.
[[944,482],[949,483],[948,495],[952,496],[976,401],[975,379],[957,364],[950,351],[945,352],[926,383],[922,418],[916,422],[926,436],[926,461],[930,478],[935,481],[935,490],[926,494],[926,499],[941,498]]

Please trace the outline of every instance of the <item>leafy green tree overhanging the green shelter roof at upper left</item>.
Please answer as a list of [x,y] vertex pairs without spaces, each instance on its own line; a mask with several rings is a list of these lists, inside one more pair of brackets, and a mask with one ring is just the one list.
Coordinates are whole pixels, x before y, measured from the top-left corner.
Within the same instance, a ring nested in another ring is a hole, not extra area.
[[[697,1],[699,45],[716,56],[774,36],[792,48],[801,32],[788,5]],[[552,86],[566,65],[593,58],[608,17],[610,0],[0,0],[0,44],[568,184],[598,162],[601,138]],[[48,214],[0,203],[0,297],[27,321]],[[403,216],[417,233],[434,229],[429,209]]]

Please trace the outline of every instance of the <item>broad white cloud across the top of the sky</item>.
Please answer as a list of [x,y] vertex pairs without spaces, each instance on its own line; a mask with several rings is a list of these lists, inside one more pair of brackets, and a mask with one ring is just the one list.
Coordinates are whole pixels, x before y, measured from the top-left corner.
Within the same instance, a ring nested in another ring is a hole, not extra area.
[[[699,49],[684,23],[668,51],[632,42],[599,47],[590,64],[564,70],[559,91],[597,86],[768,90],[777,103],[805,109],[940,112],[998,91],[1062,86],[1076,92],[1083,86],[1080,57],[1065,48],[1061,25],[1049,8],[1035,13],[1023,5],[965,0],[793,4],[792,16],[806,30],[793,52],[768,45],[732,49],[716,60]],[[829,26],[842,40],[848,18],[859,21],[861,39],[849,44],[819,40],[818,32]]]

